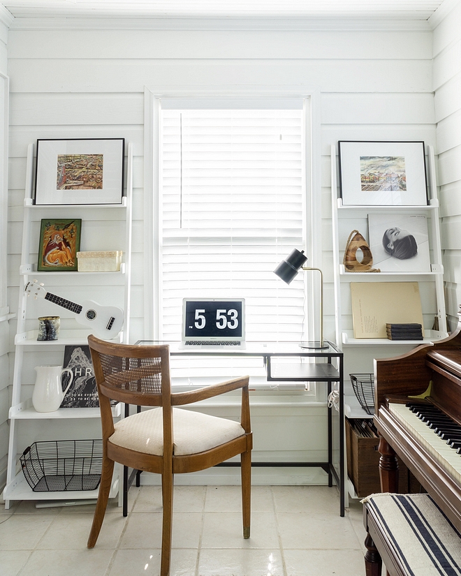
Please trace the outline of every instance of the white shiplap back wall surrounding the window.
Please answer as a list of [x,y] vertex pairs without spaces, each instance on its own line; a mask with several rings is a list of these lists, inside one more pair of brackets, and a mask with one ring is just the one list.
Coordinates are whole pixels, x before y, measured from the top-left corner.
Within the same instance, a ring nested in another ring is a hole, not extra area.
[[[330,145],[337,140],[425,140],[435,145],[432,32],[425,22],[322,26],[317,22],[304,29],[297,22],[294,29],[275,29],[277,24],[272,28],[247,24],[238,29],[235,22],[169,24],[165,20],[14,22],[8,38],[10,307],[17,306],[29,142],[36,138],[105,137],[133,142],[131,341],[136,341],[144,337],[142,241],[143,227],[149,225],[143,214],[143,163],[149,161],[143,158],[144,87],[300,85],[316,87],[321,93],[321,186],[314,193],[321,195],[322,262],[312,265],[320,264],[325,274],[325,336],[333,337]],[[98,232],[98,220],[94,221],[92,242],[103,244],[102,219],[100,223]],[[15,323],[11,324],[13,333]],[[278,415],[282,415],[280,411]],[[287,416],[283,415],[285,422]],[[278,422],[276,417],[275,413],[271,416],[272,422]],[[261,420],[261,429],[267,424],[267,418]],[[319,432],[318,424],[314,419],[303,420],[305,429],[300,436],[309,438],[305,450],[313,460],[322,457],[316,453],[319,434],[325,446],[323,427]],[[293,436],[290,432],[288,429],[287,434]]]

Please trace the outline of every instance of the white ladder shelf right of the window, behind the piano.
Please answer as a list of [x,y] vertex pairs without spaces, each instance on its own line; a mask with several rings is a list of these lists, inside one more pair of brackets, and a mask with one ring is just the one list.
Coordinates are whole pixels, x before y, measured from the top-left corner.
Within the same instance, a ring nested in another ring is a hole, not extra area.
[[[335,341],[344,353],[344,406],[349,420],[372,418],[354,396],[349,374],[374,371],[374,359],[394,357],[403,354],[425,342],[438,341],[448,336],[444,300],[444,267],[441,256],[439,201],[437,198],[437,179],[434,150],[426,147],[426,167],[428,184],[428,202],[421,206],[344,206],[339,195],[337,147],[331,146],[331,206],[332,206],[332,250],[333,283],[335,297]],[[430,245],[430,270],[427,272],[348,272],[343,265],[346,241],[352,230],[358,230],[369,242],[368,215],[379,212],[423,214],[427,219]],[[351,304],[351,283],[353,282],[417,282],[423,311],[423,341],[395,341],[387,338],[355,338]],[[349,452],[356,438],[349,434]],[[356,444],[369,449],[367,443],[376,443],[376,439],[360,438]],[[373,448],[373,447],[372,447]],[[357,452],[357,450],[356,450]],[[360,453],[354,454],[358,459]],[[363,463],[358,463],[357,466]],[[360,469],[360,466],[358,469]],[[358,478],[355,480],[358,485]],[[349,494],[360,496],[349,481]]]

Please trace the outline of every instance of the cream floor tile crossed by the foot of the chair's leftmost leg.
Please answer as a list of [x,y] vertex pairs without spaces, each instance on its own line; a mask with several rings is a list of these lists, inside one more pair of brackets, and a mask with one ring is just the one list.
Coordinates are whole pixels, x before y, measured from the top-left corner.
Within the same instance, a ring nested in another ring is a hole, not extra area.
[[[92,527],[92,514],[59,514],[45,536],[38,543],[38,549],[85,549],[89,531]],[[126,524],[126,518],[120,515],[108,514],[104,518],[96,547],[98,549],[115,549]]]

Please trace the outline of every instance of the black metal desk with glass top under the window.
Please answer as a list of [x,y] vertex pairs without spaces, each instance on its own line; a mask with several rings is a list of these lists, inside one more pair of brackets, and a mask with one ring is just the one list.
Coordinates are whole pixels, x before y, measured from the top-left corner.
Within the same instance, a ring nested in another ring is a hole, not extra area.
[[[148,345],[159,344],[156,341],[140,340],[136,344]],[[277,382],[325,382],[327,383],[327,397],[332,392],[332,383],[337,382],[339,387],[339,470],[335,468],[333,463],[333,418],[332,410],[328,406],[328,461],[326,462],[251,462],[251,466],[256,468],[258,466],[291,466],[291,467],[315,467],[322,468],[328,474],[328,486],[332,487],[333,478],[339,489],[339,515],[344,517],[345,508],[345,471],[344,471],[344,355],[335,344],[325,341],[328,348],[312,349],[301,348],[298,344],[291,344],[292,350],[283,350],[287,345],[285,343],[274,343],[269,345],[259,346],[259,349],[252,349],[251,344],[247,344],[245,350],[231,350],[231,351],[202,351],[202,350],[186,350],[177,349],[172,346],[170,355],[187,355],[187,356],[256,356],[262,357],[268,381]],[[298,347],[295,349],[295,347]],[[256,345],[257,348],[257,345]],[[279,350],[277,350],[279,348]],[[323,362],[320,363],[300,363],[300,364],[286,364],[281,363],[277,365],[277,358],[281,357],[311,357],[320,358]],[[324,362],[326,360],[326,362]],[[337,360],[337,367],[332,363]],[[136,410],[140,412],[141,407],[137,406]],[[125,404],[124,411],[125,418],[129,415],[129,404]],[[240,466],[240,462],[223,462],[217,466]],[[133,481],[136,479],[136,486],[140,486],[141,471],[133,470],[129,475],[129,469],[124,466],[123,477],[123,515],[128,515],[128,491]]]

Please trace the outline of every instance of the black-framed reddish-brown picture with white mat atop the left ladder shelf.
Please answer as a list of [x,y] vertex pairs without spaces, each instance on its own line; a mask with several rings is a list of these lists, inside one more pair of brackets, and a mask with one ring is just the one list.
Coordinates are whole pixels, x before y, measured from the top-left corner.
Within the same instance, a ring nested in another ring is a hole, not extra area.
[[37,140],[35,204],[121,204],[124,147],[124,138]]

